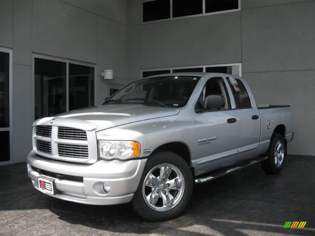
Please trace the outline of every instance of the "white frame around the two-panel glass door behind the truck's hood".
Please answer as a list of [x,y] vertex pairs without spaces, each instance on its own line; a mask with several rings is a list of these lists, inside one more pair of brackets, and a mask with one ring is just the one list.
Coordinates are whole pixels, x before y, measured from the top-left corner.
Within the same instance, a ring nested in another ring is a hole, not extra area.
[[94,67],[94,105],[95,105],[95,102],[96,102],[96,74],[97,74],[95,64],[77,61],[77,60],[66,59],[66,58],[61,58],[61,57],[54,57],[54,56],[49,56],[49,55],[33,53],[32,54],[32,121],[35,121],[35,58],[52,60],[52,61],[60,61],[60,62],[66,63],[66,112],[69,111],[69,63],[70,64],[76,64],[76,65]]

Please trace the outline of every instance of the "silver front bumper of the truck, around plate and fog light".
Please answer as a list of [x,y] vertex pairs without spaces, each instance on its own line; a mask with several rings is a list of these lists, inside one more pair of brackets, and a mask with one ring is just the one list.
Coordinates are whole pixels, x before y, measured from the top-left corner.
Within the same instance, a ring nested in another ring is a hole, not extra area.
[[[38,173],[32,167],[61,175],[83,177],[83,182],[80,182],[47,175],[54,179],[56,189],[56,194],[48,195],[91,205],[130,202],[138,188],[146,160],[99,160],[92,165],[84,165],[49,160],[37,155],[34,151],[31,151],[26,157],[28,176],[31,178],[34,188],[39,190],[38,176],[45,176],[45,174]],[[103,183],[107,183],[111,187],[111,191],[107,194],[103,190]]]

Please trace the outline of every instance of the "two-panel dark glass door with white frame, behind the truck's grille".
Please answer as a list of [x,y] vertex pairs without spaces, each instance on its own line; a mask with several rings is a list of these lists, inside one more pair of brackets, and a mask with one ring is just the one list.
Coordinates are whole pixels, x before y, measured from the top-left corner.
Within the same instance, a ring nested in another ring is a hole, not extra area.
[[94,106],[95,65],[33,55],[33,120]]

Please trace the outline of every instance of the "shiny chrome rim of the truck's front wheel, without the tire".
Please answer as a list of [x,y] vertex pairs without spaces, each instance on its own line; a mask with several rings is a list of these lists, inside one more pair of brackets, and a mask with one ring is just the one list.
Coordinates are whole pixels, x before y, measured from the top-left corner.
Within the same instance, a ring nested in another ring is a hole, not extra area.
[[146,204],[156,211],[168,211],[183,196],[185,181],[181,171],[173,165],[161,164],[149,171],[144,179],[142,194]]

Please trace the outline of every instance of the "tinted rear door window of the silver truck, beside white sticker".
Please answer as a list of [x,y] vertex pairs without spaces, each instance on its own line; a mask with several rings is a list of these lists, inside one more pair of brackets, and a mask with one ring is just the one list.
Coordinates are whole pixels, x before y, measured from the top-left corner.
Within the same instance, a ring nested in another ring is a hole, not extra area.
[[226,79],[232,90],[236,108],[251,108],[252,105],[250,103],[250,98],[242,81],[240,81],[239,79],[236,79],[236,82],[238,84],[232,86],[229,78],[226,78]]

